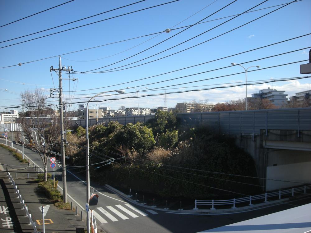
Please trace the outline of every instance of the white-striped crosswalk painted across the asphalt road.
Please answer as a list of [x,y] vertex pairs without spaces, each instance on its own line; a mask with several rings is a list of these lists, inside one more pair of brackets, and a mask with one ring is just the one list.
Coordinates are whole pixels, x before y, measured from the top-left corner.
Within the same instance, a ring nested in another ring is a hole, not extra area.
[[117,222],[119,220],[127,220],[130,218],[138,218],[148,216],[149,214],[158,214],[151,209],[145,209],[146,212],[137,209],[129,203],[123,205],[97,207],[93,210],[93,214],[100,223]]

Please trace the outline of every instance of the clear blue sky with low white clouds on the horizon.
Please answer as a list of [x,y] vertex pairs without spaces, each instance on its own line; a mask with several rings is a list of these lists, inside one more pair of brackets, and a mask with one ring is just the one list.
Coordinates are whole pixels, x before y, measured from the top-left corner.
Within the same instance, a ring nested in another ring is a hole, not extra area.
[[[63,99],[72,103],[71,110],[102,92],[106,93],[90,108],[96,103],[112,109],[137,107],[137,90],[139,107],[146,108],[245,98],[244,69],[231,62],[244,63],[245,68],[260,66],[248,69],[248,97],[268,87],[284,90],[288,97],[311,89],[310,78],[271,82],[307,76],[299,73],[299,65],[309,62],[304,60],[311,47],[311,35],[306,35],[311,33],[311,0],[287,6],[292,1],[68,1],[0,2],[1,111],[21,111],[20,94],[26,90],[39,88],[49,97],[50,89],[59,88],[58,74],[50,72],[51,66],[58,69],[59,56],[62,66],[73,70],[62,73]],[[62,3],[66,4],[55,7]],[[55,8],[44,11],[51,7]],[[40,11],[44,12],[30,16]],[[105,11],[109,12],[100,14]],[[239,15],[245,11],[253,12]],[[26,16],[30,17],[22,19]],[[77,21],[89,16],[94,17]],[[67,24],[72,21],[77,22]],[[63,24],[67,25],[47,30]],[[79,27],[85,24],[90,25]],[[68,30],[74,27],[79,28]],[[67,31],[57,33],[63,30]],[[292,40],[260,48],[288,39]],[[243,53],[248,50],[253,51]],[[274,56],[278,54],[282,55]],[[265,57],[269,58],[261,59]],[[94,73],[99,71],[104,72]],[[54,97],[46,100],[52,107],[58,102],[57,94]]]

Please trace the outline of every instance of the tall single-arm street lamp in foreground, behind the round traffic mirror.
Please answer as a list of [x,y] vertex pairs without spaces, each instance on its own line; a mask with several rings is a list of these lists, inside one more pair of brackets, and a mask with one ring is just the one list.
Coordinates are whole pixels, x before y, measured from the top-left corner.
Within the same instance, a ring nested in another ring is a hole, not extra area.
[[[124,90],[114,90],[118,92],[119,94],[123,94]],[[90,199],[90,161],[89,161],[89,103],[92,99],[95,97],[107,93],[107,92],[114,92],[114,91],[105,91],[100,94],[97,94],[89,99],[89,101],[86,104],[86,203],[89,202]],[[86,228],[87,233],[90,233],[90,212],[86,212]]]

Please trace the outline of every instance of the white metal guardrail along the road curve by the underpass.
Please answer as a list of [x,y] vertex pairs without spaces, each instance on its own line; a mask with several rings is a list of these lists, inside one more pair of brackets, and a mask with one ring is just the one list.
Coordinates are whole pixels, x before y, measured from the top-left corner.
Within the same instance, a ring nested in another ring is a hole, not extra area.
[[264,202],[268,202],[268,198],[270,197],[278,196],[279,199],[281,199],[282,195],[291,194],[291,196],[294,196],[294,193],[300,192],[299,194],[301,194],[301,191],[303,191],[303,193],[305,194],[307,189],[311,189],[311,185],[304,185],[302,187],[291,188],[288,190],[279,190],[272,193],[259,194],[255,196],[248,196],[237,199],[234,198],[230,200],[209,200],[209,201],[195,200],[193,209],[197,210],[198,205],[211,205],[212,210],[216,209],[215,208],[216,205],[232,205],[231,208],[236,208],[235,205],[237,203],[249,202],[249,205],[252,205],[252,201],[259,199],[264,200]]

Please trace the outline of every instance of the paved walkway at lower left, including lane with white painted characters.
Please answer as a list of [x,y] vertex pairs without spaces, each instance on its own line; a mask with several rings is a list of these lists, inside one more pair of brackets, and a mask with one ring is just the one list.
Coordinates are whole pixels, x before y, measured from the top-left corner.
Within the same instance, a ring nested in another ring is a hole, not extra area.
[[[6,168],[17,185],[17,189],[25,201],[29,213],[32,214],[32,220],[37,224],[37,229],[43,230],[43,217],[39,210],[42,205],[49,205],[49,210],[45,216],[45,232],[76,232],[76,227],[84,227],[85,221],[80,221],[80,216],[76,216],[74,211],[60,210],[53,203],[45,198],[45,195],[37,189],[35,178],[37,172],[28,164],[22,164],[15,159],[9,151],[0,147],[0,232],[32,232],[28,217],[22,204],[15,194],[15,189],[10,182]],[[29,175],[29,179],[28,179]],[[16,178],[15,178],[16,177]],[[5,211],[3,211],[3,206]]]

